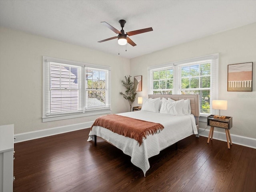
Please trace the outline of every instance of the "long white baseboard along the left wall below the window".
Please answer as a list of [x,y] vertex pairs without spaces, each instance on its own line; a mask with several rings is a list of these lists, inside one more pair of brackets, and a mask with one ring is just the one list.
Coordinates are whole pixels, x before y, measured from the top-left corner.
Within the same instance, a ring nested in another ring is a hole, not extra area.
[[70,131],[77,131],[80,129],[86,129],[92,126],[94,121],[86,122],[86,123],[79,123],[79,124],[74,124],[74,125],[66,125],[62,127],[54,127],[51,129],[43,129],[39,131],[31,131],[31,132],[26,132],[26,133],[20,133],[14,135],[15,140],[14,143],[19,143],[22,141],[29,141],[32,139],[39,139],[42,137],[48,137],[52,135],[58,135],[61,133],[67,133]]

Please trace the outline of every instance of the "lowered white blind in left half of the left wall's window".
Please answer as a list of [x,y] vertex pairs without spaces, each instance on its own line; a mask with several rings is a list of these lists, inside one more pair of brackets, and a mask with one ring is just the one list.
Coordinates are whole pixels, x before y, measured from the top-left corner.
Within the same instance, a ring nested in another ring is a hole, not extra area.
[[50,105],[46,115],[82,112],[80,74],[79,66],[50,62]]

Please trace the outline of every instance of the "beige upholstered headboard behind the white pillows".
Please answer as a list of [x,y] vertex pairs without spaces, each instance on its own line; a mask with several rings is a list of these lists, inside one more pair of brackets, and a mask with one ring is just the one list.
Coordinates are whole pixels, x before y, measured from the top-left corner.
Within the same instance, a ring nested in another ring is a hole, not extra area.
[[196,118],[196,125],[199,123],[199,116],[200,116],[200,110],[199,110],[199,95],[148,95],[148,98],[158,98],[161,99],[164,98],[171,98],[175,101],[181,100],[181,99],[190,99],[190,106],[191,106],[191,113]]

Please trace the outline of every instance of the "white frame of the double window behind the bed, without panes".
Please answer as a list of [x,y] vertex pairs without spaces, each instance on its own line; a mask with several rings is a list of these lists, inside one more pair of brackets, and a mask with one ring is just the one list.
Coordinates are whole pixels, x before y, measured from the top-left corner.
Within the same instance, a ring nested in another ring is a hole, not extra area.
[[[218,60],[219,60],[219,54],[214,53],[211,55],[204,55],[201,57],[194,57],[191,59],[186,59],[182,61],[175,61],[175,62],[170,62],[170,63],[165,63],[161,65],[154,65],[148,67],[148,94],[154,94],[153,93],[153,76],[152,76],[152,71],[157,71],[161,70],[164,68],[168,67],[173,67],[173,89],[172,89],[172,94],[178,95],[182,94],[181,91],[184,90],[181,88],[181,72],[179,71],[181,66],[186,66],[186,65],[195,65],[195,64],[202,64],[205,62],[210,62],[211,66],[211,74],[210,74],[210,113],[201,113],[201,117],[207,117],[210,114],[215,114],[216,110],[212,109],[212,100],[218,99]],[[199,74],[200,75],[200,74]],[[192,88],[191,90],[203,90],[209,88]],[[187,89],[188,90],[188,89]]]

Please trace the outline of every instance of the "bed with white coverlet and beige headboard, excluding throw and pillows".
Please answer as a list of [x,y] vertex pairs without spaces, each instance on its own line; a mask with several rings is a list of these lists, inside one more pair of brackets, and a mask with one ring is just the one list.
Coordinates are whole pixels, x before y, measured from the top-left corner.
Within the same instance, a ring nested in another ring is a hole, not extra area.
[[164,148],[167,148],[190,135],[199,137],[199,95],[148,95],[148,98],[151,99],[156,99],[158,97],[160,97],[160,99],[170,98],[174,101],[189,99],[191,114],[177,116],[142,110],[119,113],[116,115],[161,123],[164,126],[164,129],[160,131],[160,133],[148,135],[146,139],[143,138],[142,144],[138,144],[138,141],[131,139],[130,137],[119,135],[104,127],[93,126],[89,133],[88,141],[94,140],[96,144],[96,138],[101,137],[108,143],[116,146],[122,150],[124,154],[131,156],[132,164],[142,169],[145,176],[147,170],[150,168],[148,161],[150,157],[159,154]]

